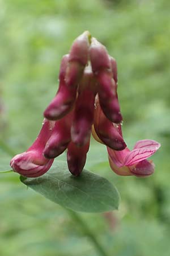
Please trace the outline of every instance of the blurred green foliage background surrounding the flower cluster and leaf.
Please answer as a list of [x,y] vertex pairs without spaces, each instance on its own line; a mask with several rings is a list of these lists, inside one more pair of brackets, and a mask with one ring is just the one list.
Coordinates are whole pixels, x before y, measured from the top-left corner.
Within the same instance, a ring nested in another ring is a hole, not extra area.
[[[152,157],[155,174],[140,179],[114,174],[105,147],[91,143],[86,168],[107,177],[121,195],[112,215],[80,214],[108,255],[169,255],[169,11],[168,0],[0,0],[3,168],[10,169],[10,151],[25,151],[35,140],[57,90],[61,57],[84,30],[117,60],[128,146],[139,139],[162,144]],[[0,255],[99,255],[65,210],[27,190],[17,174],[1,174],[0,181]]]

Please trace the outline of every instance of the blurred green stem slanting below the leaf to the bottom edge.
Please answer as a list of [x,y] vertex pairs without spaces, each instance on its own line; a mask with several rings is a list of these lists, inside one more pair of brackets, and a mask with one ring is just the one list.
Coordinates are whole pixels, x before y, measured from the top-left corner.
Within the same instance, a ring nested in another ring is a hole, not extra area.
[[[66,208],[65,208],[66,209]],[[83,218],[80,217],[80,215],[76,212],[73,212],[73,210],[66,209],[67,213],[69,213],[70,217],[73,218],[73,220],[79,224],[79,226],[82,228],[83,233],[88,236],[91,240],[91,242],[94,244],[96,250],[100,253],[101,256],[109,256],[108,253],[105,251],[103,246],[100,245],[100,242],[97,240],[96,236],[90,228],[86,225],[86,222],[84,222]]]

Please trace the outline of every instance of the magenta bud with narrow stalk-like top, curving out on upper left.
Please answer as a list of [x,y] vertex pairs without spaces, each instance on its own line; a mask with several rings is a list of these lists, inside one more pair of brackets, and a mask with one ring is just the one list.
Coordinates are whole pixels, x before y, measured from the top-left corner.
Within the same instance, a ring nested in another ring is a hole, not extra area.
[[76,98],[76,88],[70,88],[65,83],[66,67],[68,64],[69,55],[65,55],[61,61],[59,71],[59,89],[44,112],[44,117],[49,120],[57,120],[69,113],[73,108]]

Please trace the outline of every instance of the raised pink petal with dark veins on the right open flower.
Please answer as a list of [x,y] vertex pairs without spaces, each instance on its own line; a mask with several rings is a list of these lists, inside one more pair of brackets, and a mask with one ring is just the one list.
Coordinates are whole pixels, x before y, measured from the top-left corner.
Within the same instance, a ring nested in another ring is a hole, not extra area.
[[124,165],[133,166],[133,164],[137,164],[142,160],[145,160],[151,155],[153,155],[156,152],[156,150],[158,150],[158,147],[143,147],[143,148],[137,148],[135,150],[132,150],[126,156]]

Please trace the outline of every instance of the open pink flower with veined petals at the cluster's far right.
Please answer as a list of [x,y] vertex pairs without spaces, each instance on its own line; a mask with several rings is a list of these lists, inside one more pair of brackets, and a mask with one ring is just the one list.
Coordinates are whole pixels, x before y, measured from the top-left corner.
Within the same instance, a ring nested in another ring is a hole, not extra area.
[[155,165],[147,158],[153,155],[159,147],[160,143],[150,139],[138,141],[132,151],[127,147],[122,151],[115,151],[107,147],[110,166],[116,174],[122,176],[151,175]]

